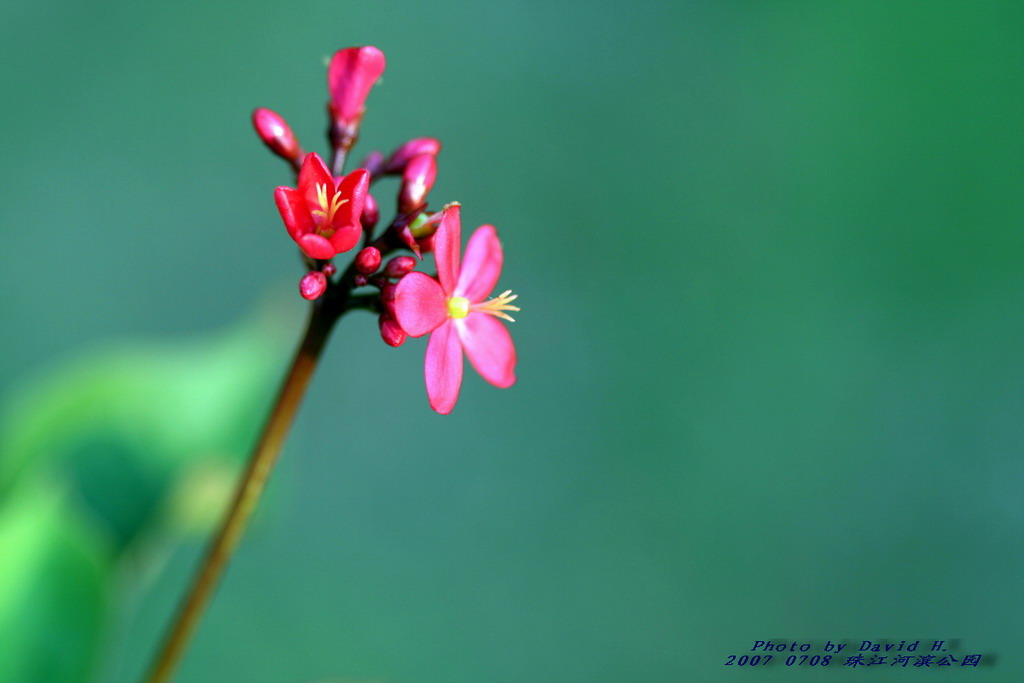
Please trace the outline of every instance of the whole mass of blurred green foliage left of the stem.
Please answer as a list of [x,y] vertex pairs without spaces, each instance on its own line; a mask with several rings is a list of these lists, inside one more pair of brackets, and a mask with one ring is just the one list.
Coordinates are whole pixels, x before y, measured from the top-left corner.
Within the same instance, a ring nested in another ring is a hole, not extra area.
[[286,341],[249,324],[124,343],[12,395],[0,429],[0,680],[95,673],[122,553],[147,529],[214,522]]

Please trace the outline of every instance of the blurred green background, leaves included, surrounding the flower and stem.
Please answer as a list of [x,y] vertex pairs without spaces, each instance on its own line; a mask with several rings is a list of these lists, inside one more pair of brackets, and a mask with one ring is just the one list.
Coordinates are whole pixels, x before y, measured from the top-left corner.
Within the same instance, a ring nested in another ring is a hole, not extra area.
[[1024,680],[1022,7],[5,0],[0,679],[145,668],[304,313],[249,114],[375,44],[519,383],[346,318],[180,680]]

